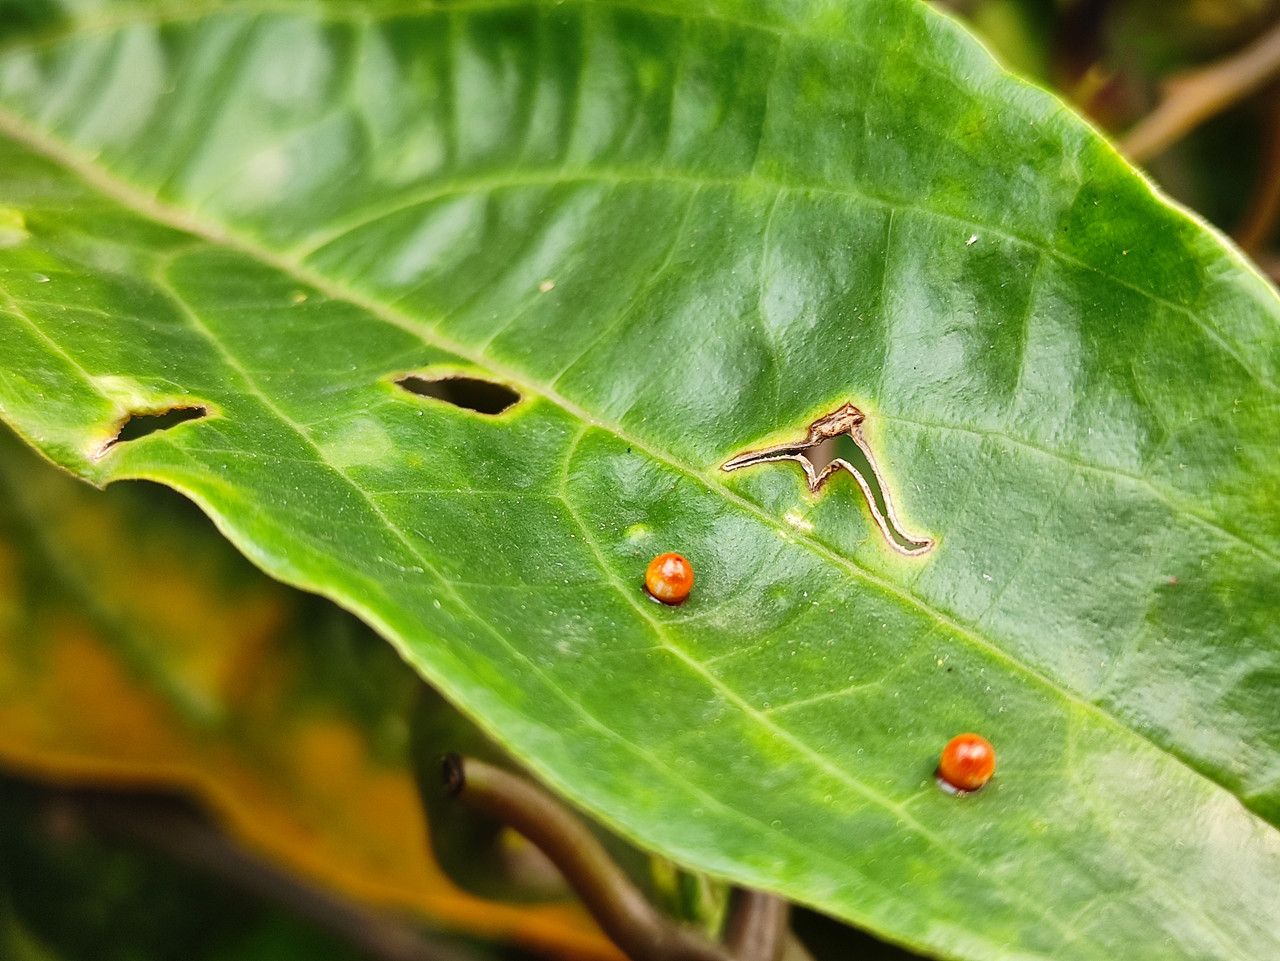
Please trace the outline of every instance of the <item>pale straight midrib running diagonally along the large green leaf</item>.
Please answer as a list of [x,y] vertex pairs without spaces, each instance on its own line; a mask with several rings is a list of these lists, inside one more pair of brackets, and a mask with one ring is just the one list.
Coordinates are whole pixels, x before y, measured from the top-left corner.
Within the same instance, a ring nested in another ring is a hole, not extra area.
[[[160,201],[154,196],[148,196],[141,188],[119,178],[116,174],[114,174],[114,171],[109,170],[104,165],[95,163],[92,159],[82,156],[69,145],[51,137],[50,134],[40,131],[38,128],[32,127],[24,118],[20,118],[17,114],[12,113],[10,110],[3,107],[0,107],[0,133],[13,138],[14,141],[22,143],[27,148],[33,150],[37,154],[41,154],[42,156],[60,165],[65,170],[79,177],[90,187],[100,191],[105,196],[119,202],[122,206],[133,210],[140,216],[150,219],[155,223],[168,225],[173,229],[200,237],[210,244],[241,253],[242,256],[246,256],[259,264],[269,266],[274,270],[280,271],[282,274],[285,274],[296,279],[301,284],[312,287],[314,289],[319,290],[325,297],[333,301],[346,302],[356,307],[360,307],[361,310],[367,311],[370,315],[383,320],[384,322],[392,324],[393,326],[397,326],[404,330],[406,333],[412,334],[413,337],[419,338],[428,345],[433,345],[442,351],[452,352],[456,356],[468,360],[480,367],[486,367],[494,371],[494,374],[497,374],[499,377],[509,380],[512,384],[527,390],[530,394],[536,394],[539,397],[543,397],[545,401],[559,407],[562,411],[564,411],[571,417],[579,420],[580,422],[589,426],[594,426],[604,431],[605,434],[614,436],[622,443],[628,444],[632,448],[644,452],[654,461],[666,465],[668,468],[701,484],[709,491],[718,494],[727,502],[735,504],[740,509],[751,514],[758,521],[776,530],[780,534],[780,536],[783,536],[792,543],[803,545],[804,548],[810,550],[810,553],[822,558],[827,563],[833,564],[837,568],[842,568],[850,576],[861,580],[884,591],[886,594],[897,598],[901,603],[911,608],[915,608],[924,616],[932,618],[936,623],[946,628],[950,628],[951,632],[956,635],[957,639],[964,640],[973,647],[984,651],[996,660],[1004,662],[1016,673],[1023,674],[1025,678],[1033,681],[1034,683],[1041,685],[1042,687],[1047,688],[1056,696],[1061,697],[1064,701],[1074,704],[1084,713],[1092,714],[1102,719],[1107,726],[1112,727],[1116,731],[1123,732],[1125,736],[1146,742],[1158,752],[1174,759],[1178,764],[1180,764],[1183,768],[1193,773],[1196,777],[1201,778],[1208,784],[1212,784],[1216,790],[1225,791],[1235,796],[1234,792],[1231,792],[1230,788],[1228,788],[1225,784],[1220,783],[1215,778],[1199,770],[1198,768],[1188,763],[1185,759],[1183,759],[1180,755],[1174,752],[1171,749],[1157,743],[1144,732],[1137,731],[1126,726],[1119,718],[1105,710],[1101,705],[1091,700],[1087,700],[1075,691],[1073,691],[1071,688],[1060,685],[1057,681],[1042,673],[1033,665],[1023,663],[1021,660],[1015,658],[1011,653],[995,645],[992,641],[983,639],[982,636],[975,633],[972,628],[964,626],[963,623],[954,619],[945,612],[934,608],[928,601],[913,594],[906,592],[904,589],[901,589],[892,581],[888,581],[881,577],[879,575],[874,573],[873,571],[861,567],[860,564],[858,564],[856,560],[836,553],[835,550],[832,550],[831,548],[828,548],[826,544],[817,540],[812,535],[792,528],[790,526],[786,526],[785,522],[781,521],[780,518],[773,517],[772,514],[767,513],[765,511],[763,511],[762,508],[759,508],[742,495],[724,486],[722,482],[719,482],[719,480],[716,476],[707,476],[696,470],[687,467],[686,465],[677,461],[673,456],[658,450],[657,448],[652,447],[648,441],[628,434],[626,429],[623,429],[621,425],[604,421],[596,417],[595,415],[590,413],[585,408],[579,407],[572,401],[558,394],[556,390],[530,381],[521,371],[516,369],[508,369],[500,362],[495,362],[494,360],[492,360],[485,354],[477,354],[468,347],[454,343],[451,338],[447,338],[439,331],[428,328],[422,321],[412,317],[408,314],[404,314],[403,311],[397,310],[394,306],[383,303],[378,298],[370,297],[357,289],[349,288],[340,282],[332,280],[324,276],[323,274],[311,270],[305,264],[298,264],[296,261],[289,260],[288,257],[282,257],[274,253],[273,251],[262,247],[255,239],[229,230],[223,224],[209,223],[189,214],[188,211],[165,203],[164,201]],[[1253,814],[1253,816],[1257,815]]]

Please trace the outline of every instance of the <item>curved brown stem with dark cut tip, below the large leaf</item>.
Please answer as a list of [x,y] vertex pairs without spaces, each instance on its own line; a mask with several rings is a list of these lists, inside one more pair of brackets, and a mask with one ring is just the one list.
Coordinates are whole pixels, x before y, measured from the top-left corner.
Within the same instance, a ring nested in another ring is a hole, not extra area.
[[468,807],[511,825],[541,848],[632,961],[735,961],[726,948],[654,909],[595,834],[531,782],[457,755],[444,759],[444,781]]

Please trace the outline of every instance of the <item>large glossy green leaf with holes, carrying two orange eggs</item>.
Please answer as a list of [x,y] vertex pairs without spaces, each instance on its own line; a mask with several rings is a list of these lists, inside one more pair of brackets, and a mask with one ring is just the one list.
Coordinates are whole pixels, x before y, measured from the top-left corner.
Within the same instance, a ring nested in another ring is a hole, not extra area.
[[[1280,301],[955,24],[19,8],[0,408],[50,457],[187,493],[691,865],[946,956],[1280,953]],[[719,471],[846,401],[923,557],[847,476]]]

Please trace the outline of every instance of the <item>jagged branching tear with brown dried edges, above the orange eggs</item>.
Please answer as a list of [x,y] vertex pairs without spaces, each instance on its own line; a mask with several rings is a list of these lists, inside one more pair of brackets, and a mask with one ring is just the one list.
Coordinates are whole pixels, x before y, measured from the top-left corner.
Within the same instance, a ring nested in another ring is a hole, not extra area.
[[[837,407],[831,413],[824,413],[809,425],[809,431],[805,434],[803,440],[794,440],[787,444],[776,444],[774,447],[767,447],[760,450],[745,450],[744,453],[726,461],[721,465],[722,471],[737,471],[742,467],[754,467],[760,463],[773,463],[776,461],[795,461],[804,468],[805,477],[809,481],[809,490],[814,494],[822,490],[823,485],[831,480],[831,477],[838,471],[847,471],[852,475],[854,480],[858,481],[858,486],[863,491],[863,496],[867,499],[867,507],[870,509],[872,520],[876,521],[876,526],[879,527],[884,541],[893,548],[900,554],[906,554],[908,557],[919,557],[933,549],[932,537],[916,537],[913,534],[908,534],[902,527],[902,522],[897,518],[897,512],[893,509],[893,499],[888,493],[888,485],[884,482],[884,476],[881,473],[879,465],[876,462],[876,454],[872,453],[870,445],[867,443],[867,438],[863,436],[863,424],[867,421],[867,415],[860,409],[854,407],[851,403],[845,403]],[[876,499],[876,493],[872,489],[870,482],[863,475],[863,472],[846,461],[842,457],[836,457],[820,471],[817,468],[812,459],[818,448],[823,444],[836,440],[841,435],[847,435],[852,440],[858,449],[863,452],[867,458],[867,463],[870,466],[872,475],[876,480],[876,488],[881,493],[881,499],[884,502],[884,509],[882,511],[879,503]]]

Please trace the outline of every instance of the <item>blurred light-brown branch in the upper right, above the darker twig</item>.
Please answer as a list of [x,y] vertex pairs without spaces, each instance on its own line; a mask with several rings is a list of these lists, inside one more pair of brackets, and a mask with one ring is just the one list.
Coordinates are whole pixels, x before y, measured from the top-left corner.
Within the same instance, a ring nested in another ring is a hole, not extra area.
[[1225,60],[1170,78],[1164,101],[1120,147],[1130,160],[1148,160],[1277,74],[1280,23]]

